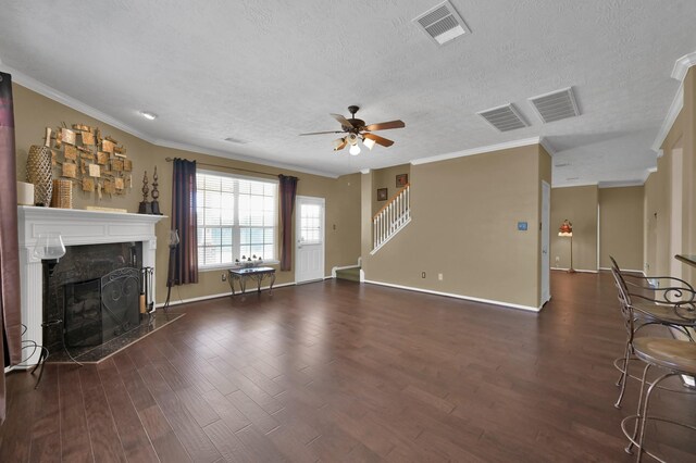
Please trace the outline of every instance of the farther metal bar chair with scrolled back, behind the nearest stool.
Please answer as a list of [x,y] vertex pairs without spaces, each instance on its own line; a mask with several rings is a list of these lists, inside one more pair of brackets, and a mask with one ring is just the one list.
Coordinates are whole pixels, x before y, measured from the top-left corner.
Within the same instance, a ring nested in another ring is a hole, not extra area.
[[[617,386],[621,389],[614,403],[617,409],[625,393],[629,362],[633,353],[635,334],[648,325],[662,325],[678,329],[693,341],[688,327],[696,326],[696,290],[686,281],[674,277],[643,277],[622,273],[613,258],[611,274],[619,291],[621,313],[626,328],[623,356],[614,360],[621,372]],[[626,281],[626,278],[629,281]],[[664,281],[666,286],[659,284]],[[657,283],[657,286],[654,286]],[[637,300],[637,301],[636,301]],[[633,376],[633,378],[636,378]]]

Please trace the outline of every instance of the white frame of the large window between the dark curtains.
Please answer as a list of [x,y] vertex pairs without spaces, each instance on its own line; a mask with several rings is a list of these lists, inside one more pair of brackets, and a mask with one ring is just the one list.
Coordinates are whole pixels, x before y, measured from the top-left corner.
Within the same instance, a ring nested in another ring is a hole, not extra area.
[[[202,174],[202,175],[212,175],[212,176],[217,176],[217,177],[227,177],[227,178],[235,178],[235,179],[241,179],[241,180],[263,182],[263,183],[266,183],[266,184],[274,184],[275,185],[275,213],[273,214],[273,236],[274,236],[274,239],[273,239],[273,259],[264,259],[263,263],[264,264],[279,264],[279,261],[277,260],[277,255],[278,255],[278,236],[279,236],[279,229],[278,229],[279,182],[277,179],[273,179],[273,178],[252,177],[252,176],[247,176],[247,175],[231,174],[231,173],[226,173],[226,172],[209,171],[209,170],[202,170],[202,168],[197,170],[196,173],[197,174]],[[198,189],[198,185],[197,185],[197,187],[196,187],[196,200],[197,200],[196,209],[197,210],[198,210],[198,197],[199,197],[199,192],[200,191],[203,191],[203,190],[199,190]],[[238,196],[238,191],[235,191],[235,193],[234,193],[234,201],[235,201],[235,205],[234,205],[235,218],[234,218],[233,225],[231,226],[232,227],[232,247],[233,247],[232,262],[223,262],[223,263],[220,263],[220,264],[199,265],[198,266],[199,272],[212,272],[212,271],[232,268],[232,267],[235,267],[234,260],[235,259],[239,259],[239,260],[241,259],[241,255],[240,255],[241,243],[240,243],[239,196]],[[197,225],[197,229],[198,229],[198,225]],[[202,252],[203,249],[204,249],[204,246],[202,246],[201,243],[198,243],[198,252],[199,253]]]

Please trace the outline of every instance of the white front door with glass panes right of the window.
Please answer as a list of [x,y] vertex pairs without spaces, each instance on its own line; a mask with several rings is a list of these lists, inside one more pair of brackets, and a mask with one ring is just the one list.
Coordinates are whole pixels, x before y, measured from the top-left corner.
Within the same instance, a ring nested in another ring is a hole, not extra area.
[[298,196],[295,283],[324,278],[324,198]]

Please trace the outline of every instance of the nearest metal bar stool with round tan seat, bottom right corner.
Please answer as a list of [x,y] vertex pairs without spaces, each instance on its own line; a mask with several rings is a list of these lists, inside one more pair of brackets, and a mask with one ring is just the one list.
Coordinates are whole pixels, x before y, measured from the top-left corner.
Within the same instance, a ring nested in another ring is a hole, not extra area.
[[[630,443],[625,451],[632,453],[633,447],[638,449],[636,461],[641,462],[643,454],[646,453],[654,459],[663,462],[658,455],[645,449],[646,424],[649,420],[664,423],[672,423],[692,430],[696,430],[696,426],[676,422],[663,416],[648,416],[648,406],[650,398],[656,389],[660,388],[659,384],[667,378],[680,375],[696,376],[696,343],[689,341],[681,341],[676,339],[642,337],[633,341],[633,351],[636,358],[646,363],[641,380],[641,396],[638,398],[638,408],[635,415],[626,416],[621,421],[621,429],[629,438]],[[651,366],[658,366],[664,373],[654,379],[651,383],[646,381],[648,370]],[[647,387],[646,392],[646,385]],[[670,390],[660,388],[663,390]],[[689,392],[682,390],[680,392]],[[691,392],[689,392],[691,393]],[[626,429],[630,422],[635,421],[633,433]]]

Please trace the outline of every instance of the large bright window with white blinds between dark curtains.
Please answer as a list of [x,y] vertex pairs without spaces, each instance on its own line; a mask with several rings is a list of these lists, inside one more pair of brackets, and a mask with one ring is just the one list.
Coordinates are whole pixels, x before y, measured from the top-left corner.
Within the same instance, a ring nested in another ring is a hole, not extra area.
[[206,171],[196,182],[199,267],[276,259],[277,182]]

